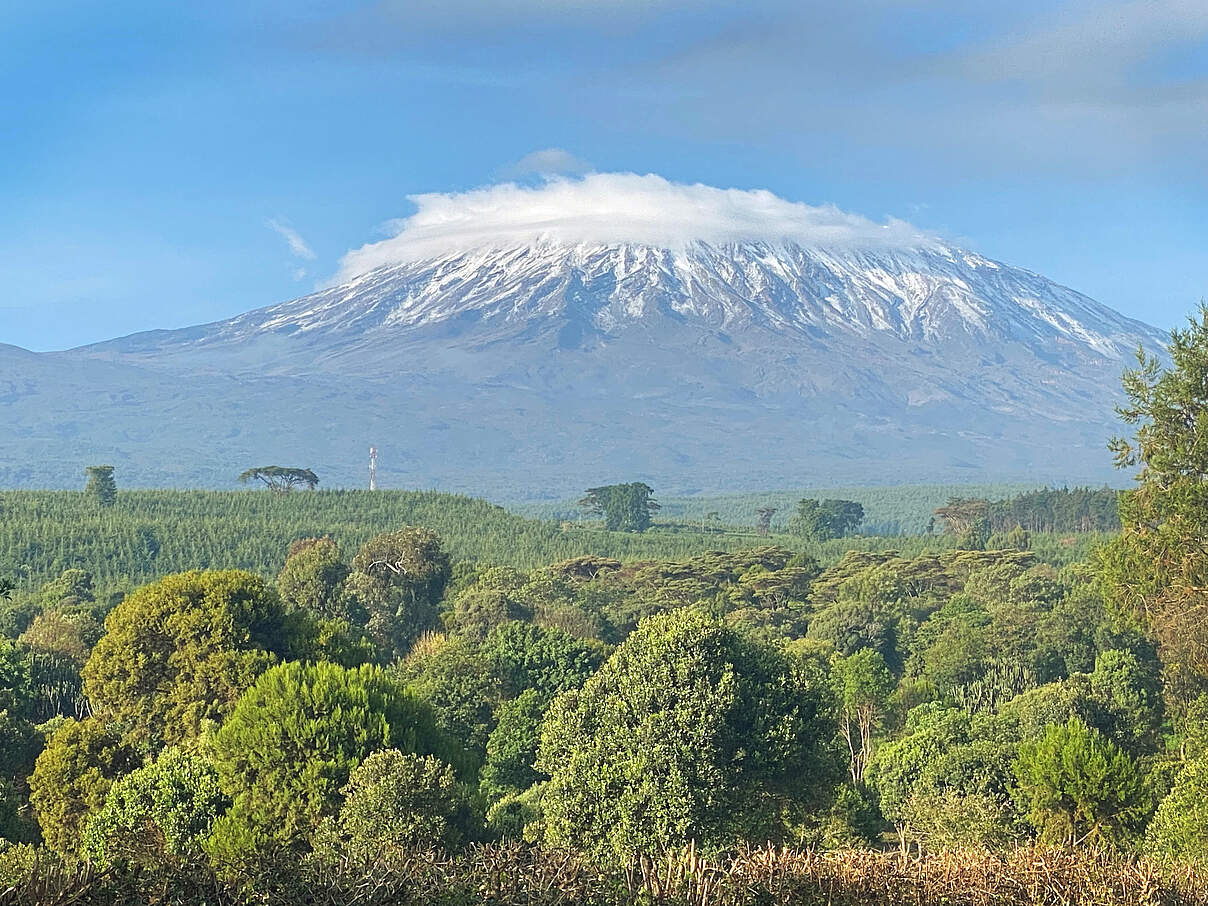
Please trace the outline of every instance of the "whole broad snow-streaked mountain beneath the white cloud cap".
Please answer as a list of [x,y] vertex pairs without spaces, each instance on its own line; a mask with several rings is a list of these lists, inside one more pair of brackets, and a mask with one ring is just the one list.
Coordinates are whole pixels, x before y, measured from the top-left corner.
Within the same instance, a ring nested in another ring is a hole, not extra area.
[[[1165,337],[941,243],[492,245],[66,353],[0,348],[0,484],[228,486],[249,465],[496,498],[1103,481]],[[6,391],[7,388],[7,391]]]

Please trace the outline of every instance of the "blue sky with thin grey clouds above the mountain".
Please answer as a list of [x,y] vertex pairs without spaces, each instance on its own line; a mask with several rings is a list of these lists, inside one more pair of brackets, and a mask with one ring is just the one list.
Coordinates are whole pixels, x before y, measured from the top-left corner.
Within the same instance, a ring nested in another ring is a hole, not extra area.
[[291,298],[410,194],[585,167],[899,217],[1172,326],[1208,2],[10,1],[0,342]]

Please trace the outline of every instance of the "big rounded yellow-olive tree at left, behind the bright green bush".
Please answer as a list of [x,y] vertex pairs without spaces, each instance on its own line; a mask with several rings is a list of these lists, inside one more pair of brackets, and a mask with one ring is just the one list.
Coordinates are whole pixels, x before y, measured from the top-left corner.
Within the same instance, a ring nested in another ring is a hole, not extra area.
[[152,749],[197,739],[291,644],[277,592],[238,570],[164,576],[105,620],[83,668],[97,715]]

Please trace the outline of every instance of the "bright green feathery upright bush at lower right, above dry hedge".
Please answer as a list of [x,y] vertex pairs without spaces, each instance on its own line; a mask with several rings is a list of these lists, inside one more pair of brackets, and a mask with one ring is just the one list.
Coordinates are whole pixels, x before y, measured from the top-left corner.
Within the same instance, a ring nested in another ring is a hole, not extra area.
[[1137,763],[1078,718],[1026,742],[1015,773],[1028,820],[1046,842],[1120,843],[1150,807]]

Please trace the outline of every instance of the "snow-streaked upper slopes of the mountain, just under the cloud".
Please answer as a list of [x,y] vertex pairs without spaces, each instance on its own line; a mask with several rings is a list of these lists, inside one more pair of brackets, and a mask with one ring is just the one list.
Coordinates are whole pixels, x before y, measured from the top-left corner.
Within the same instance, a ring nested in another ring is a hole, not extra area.
[[[1161,339],[1079,292],[980,255],[937,246],[806,249],[794,243],[691,243],[683,249],[580,243],[478,249],[378,267],[302,298],[188,331],[105,343],[97,354],[232,352],[290,337],[289,371],[410,337],[486,337],[563,327],[563,347],[604,343],[662,319],[719,333],[878,336],[905,343],[1017,343],[1038,355],[1119,360]],[[314,356],[316,350],[325,354]],[[275,359],[275,356],[274,356]],[[260,371],[267,362],[251,362]],[[368,364],[368,362],[366,362]]]

